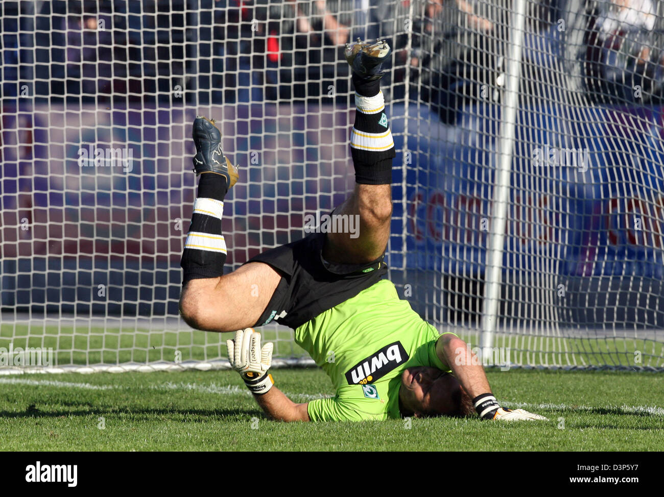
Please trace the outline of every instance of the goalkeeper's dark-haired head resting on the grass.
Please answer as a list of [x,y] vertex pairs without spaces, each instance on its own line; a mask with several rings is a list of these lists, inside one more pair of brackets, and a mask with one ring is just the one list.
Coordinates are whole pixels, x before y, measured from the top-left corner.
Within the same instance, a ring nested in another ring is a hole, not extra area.
[[437,368],[417,366],[401,375],[401,404],[416,417],[454,415],[459,410],[460,397],[457,379]]

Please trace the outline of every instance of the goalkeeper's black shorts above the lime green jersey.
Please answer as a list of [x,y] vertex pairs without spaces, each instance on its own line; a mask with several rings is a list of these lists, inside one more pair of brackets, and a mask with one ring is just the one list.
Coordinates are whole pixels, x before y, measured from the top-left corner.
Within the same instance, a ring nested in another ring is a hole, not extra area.
[[297,242],[266,250],[246,262],[266,263],[282,275],[268,307],[254,326],[276,320],[295,329],[355,297],[387,273],[384,256],[365,264],[324,261],[323,244],[325,234],[312,233]]

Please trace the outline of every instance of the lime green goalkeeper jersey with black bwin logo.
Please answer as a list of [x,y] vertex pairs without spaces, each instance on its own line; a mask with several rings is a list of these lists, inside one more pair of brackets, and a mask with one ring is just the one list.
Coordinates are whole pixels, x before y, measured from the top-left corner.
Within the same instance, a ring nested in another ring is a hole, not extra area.
[[331,378],[337,395],[309,402],[311,421],[398,418],[401,375],[411,366],[449,371],[438,331],[399,299],[388,280],[295,329],[295,342]]

